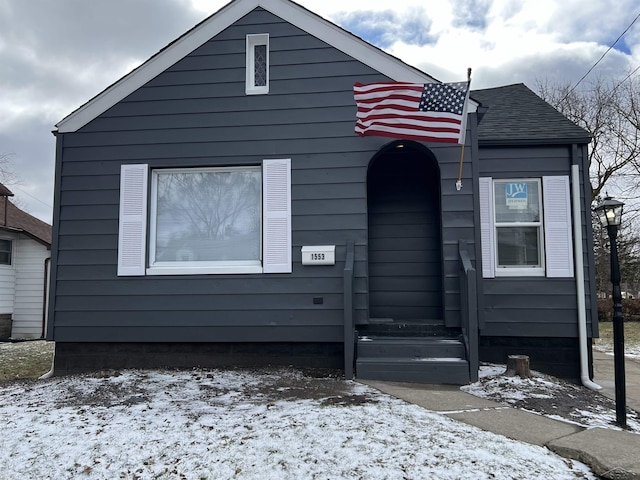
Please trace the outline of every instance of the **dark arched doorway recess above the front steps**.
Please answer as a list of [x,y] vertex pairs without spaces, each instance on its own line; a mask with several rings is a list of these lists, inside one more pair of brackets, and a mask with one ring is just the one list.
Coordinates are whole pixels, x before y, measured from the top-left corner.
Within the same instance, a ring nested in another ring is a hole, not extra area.
[[440,171],[429,149],[392,142],[367,173],[369,318],[442,321]]

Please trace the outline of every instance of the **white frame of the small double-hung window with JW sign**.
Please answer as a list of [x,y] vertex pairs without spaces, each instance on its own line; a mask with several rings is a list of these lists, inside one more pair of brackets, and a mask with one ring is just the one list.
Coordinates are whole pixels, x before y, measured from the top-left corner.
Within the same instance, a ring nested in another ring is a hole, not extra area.
[[[540,219],[537,222],[498,222],[496,221],[496,208],[495,208],[495,188],[498,184],[505,184],[508,182],[537,182],[538,183],[538,199],[540,202]],[[496,277],[544,277],[545,275],[545,245],[544,245],[544,202],[542,198],[542,182],[540,178],[499,178],[493,179],[492,186],[492,201],[493,201],[493,238],[494,242],[494,258],[495,258],[495,274]],[[537,227],[538,228],[538,246],[540,248],[540,265],[531,266],[501,266],[498,265],[498,229],[501,227]]]

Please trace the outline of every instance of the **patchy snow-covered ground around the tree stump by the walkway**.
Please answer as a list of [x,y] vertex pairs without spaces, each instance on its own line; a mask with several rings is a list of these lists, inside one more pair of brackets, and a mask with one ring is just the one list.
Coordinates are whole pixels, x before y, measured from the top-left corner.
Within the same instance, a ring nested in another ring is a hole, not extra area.
[[[531,371],[530,378],[504,375],[505,365],[482,365],[480,379],[461,390],[477,397],[546,415],[587,428],[617,429],[615,401],[581,385]],[[627,409],[628,430],[640,433],[640,415]]]

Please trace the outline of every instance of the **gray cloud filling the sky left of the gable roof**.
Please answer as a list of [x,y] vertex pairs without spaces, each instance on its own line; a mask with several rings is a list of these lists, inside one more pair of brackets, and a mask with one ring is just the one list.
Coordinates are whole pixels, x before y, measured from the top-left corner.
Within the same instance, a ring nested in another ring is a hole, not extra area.
[[0,0],[0,153],[26,210],[51,221],[54,124],[202,16],[189,0]]

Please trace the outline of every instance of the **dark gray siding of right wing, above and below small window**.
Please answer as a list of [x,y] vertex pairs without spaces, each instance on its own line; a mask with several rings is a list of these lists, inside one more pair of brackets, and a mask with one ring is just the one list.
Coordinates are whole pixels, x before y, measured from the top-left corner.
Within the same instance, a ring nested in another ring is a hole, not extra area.
[[[573,161],[584,171],[583,150],[572,153],[573,146],[480,147],[480,176],[493,178],[571,175]],[[574,160],[574,157],[575,160]],[[588,179],[588,177],[587,177]],[[586,281],[587,321],[591,322],[593,261],[590,214],[584,208],[584,179],[581,179],[584,273]],[[574,219],[575,221],[575,219]],[[483,336],[577,337],[578,313],[575,278],[508,277],[480,279],[484,291],[485,323]],[[596,322],[597,324],[597,322]],[[597,328],[597,327],[596,327]]]

